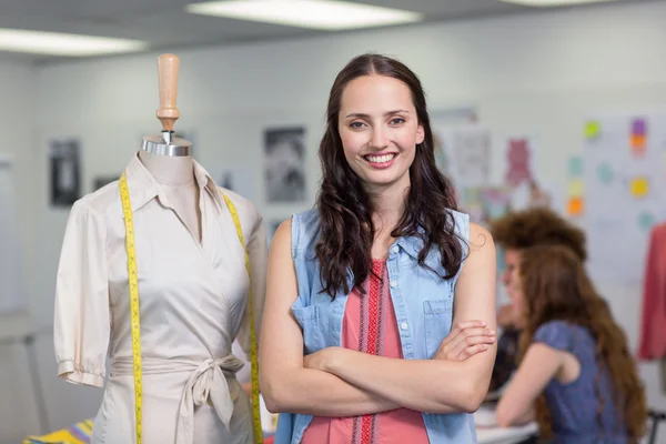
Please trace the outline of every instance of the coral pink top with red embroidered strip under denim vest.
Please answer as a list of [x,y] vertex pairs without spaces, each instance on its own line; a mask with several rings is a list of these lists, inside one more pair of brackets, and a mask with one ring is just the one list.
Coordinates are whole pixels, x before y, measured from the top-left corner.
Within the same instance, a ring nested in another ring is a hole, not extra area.
[[[352,290],[342,321],[342,346],[402,359],[397,321],[391,301],[386,262],[373,260],[363,295]],[[301,444],[427,444],[420,412],[398,408],[374,415],[315,416]]]

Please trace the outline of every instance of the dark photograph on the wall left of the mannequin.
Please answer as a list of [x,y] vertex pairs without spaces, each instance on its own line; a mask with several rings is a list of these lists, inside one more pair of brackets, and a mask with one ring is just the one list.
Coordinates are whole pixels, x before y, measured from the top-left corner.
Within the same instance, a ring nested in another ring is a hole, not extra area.
[[70,206],[81,198],[80,155],[81,143],[77,139],[49,142],[51,205]]

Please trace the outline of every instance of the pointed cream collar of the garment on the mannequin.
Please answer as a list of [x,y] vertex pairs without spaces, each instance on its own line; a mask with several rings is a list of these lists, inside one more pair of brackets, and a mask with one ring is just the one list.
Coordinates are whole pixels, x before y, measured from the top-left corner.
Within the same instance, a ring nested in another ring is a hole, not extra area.
[[[199,164],[199,162],[195,160],[192,162],[194,164],[194,180],[196,181],[200,192],[208,193],[220,209],[223,208],[224,202],[213,178]],[[143,165],[139,159],[139,153],[135,153],[128,163],[125,175],[133,211],[139,210],[155,198],[158,198],[160,203],[164,206],[171,208],[169,198],[164,194],[160,183]]]

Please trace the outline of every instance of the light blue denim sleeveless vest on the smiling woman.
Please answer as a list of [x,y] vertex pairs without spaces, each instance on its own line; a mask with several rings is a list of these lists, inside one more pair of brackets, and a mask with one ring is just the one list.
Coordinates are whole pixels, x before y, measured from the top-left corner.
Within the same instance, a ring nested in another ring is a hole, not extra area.
[[[455,232],[467,251],[470,216],[450,210],[455,221]],[[335,300],[322,293],[320,265],[314,248],[319,238],[320,218],[316,209],[292,216],[292,258],[296,270],[299,297],[292,312],[303,329],[304,354],[342,344],[342,319],[347,294],[339,293]],[[437,351],[450,333],[453,317],[454,287],[458,273],[443,280],[417,263],[423,242],[417,238],[400,238],[390,248],[386,261],[391,299],[405,360],[427,360]],[[434,249],[425,263],[438,274],[444,274],[440,252]],[[353,284],[351,270],[347,273]],[[455,381],[433,383],[455,384]],[[300,444],[312,416],[281,413],[278,420],[275,444]],[[423,421],[431,443],[476,443],[474,417],[466,413],[424,413]]]

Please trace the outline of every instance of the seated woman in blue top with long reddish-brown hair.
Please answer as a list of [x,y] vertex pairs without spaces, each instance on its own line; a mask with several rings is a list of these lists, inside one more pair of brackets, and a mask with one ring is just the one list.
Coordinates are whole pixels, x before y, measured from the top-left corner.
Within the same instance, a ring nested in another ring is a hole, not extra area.
[[643,383],[624,332],[564,246],[521,253],[512,291],[523,324],[519,365],[500,404],[503,426],[538,421],[554,443],[637,443],[646,426]]

